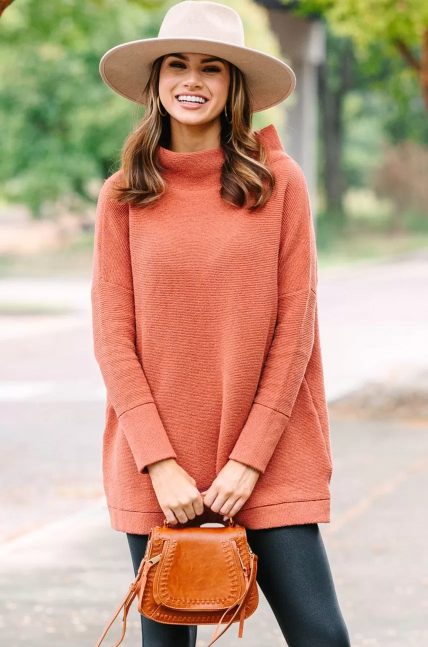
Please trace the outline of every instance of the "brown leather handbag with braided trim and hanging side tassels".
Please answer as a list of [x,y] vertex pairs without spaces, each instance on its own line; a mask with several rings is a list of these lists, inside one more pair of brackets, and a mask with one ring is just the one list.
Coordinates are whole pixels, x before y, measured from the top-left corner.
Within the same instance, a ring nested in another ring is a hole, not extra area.
[[[255,576],[257,555],[251,551],[245,528],[231,519],[222,527],[175,528],[164,521],[149,532],[144,558],[127,595],[114,612],[96,647],[123,607],[123,641],[129,608],[138,596],[138,611],[167,624],[217,624],[211,642],[232,622],[244,619],[259,604]],[[220,625],[226,626],[219,632]]]

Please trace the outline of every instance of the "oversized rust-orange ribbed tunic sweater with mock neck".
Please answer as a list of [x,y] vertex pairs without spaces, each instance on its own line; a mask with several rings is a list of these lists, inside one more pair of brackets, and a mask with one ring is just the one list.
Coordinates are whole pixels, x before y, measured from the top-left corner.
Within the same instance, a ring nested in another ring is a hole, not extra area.
[[255,131],[277,186],[248,212],[220,198],[221,148],[158,148],[166,193],[96,212],[94,355],[107,388],[103,485],[113,529],[164,515],[147,465],[175,457],[208,489],[232,458],[262,473],[248,528],[330,521],[330,432],[308,190],[273,124]]

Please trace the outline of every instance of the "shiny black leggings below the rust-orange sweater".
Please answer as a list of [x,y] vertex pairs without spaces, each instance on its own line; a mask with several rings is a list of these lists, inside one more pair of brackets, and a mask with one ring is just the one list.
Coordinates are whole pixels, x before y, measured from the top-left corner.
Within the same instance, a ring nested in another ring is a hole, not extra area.
[[[317,523],[248,530],[257,582],[289,647],[350,647]],[[134,574],[147,535],[127,532]],[[255,612],[257,613],[257,611]],[[196,626],[161,624],[143,615],[144,647],[195,647]]]

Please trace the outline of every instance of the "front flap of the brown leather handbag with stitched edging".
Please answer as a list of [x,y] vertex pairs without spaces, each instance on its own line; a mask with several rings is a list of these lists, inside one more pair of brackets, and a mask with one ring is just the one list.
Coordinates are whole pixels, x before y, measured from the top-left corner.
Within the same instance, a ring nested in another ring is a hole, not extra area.
[[233,527],[160,529],[162,554],[153,581],[157,604],[215,611],[237,604],[245,582]]

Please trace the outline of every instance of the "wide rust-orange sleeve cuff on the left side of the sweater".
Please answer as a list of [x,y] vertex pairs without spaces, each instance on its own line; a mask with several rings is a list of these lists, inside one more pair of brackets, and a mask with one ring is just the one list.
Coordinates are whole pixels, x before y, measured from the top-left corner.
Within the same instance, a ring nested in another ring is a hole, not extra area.
[[124,411],[119,417],[119,422],[140,474],[147,474],[147,465],[151,463],[177,458],[155,402],[140,404]]

